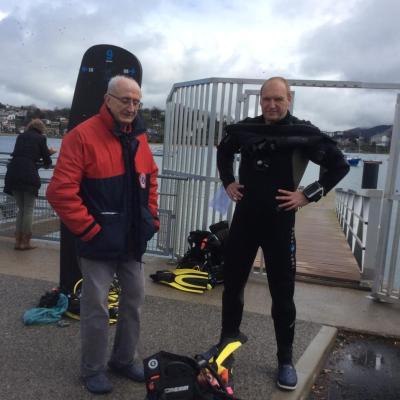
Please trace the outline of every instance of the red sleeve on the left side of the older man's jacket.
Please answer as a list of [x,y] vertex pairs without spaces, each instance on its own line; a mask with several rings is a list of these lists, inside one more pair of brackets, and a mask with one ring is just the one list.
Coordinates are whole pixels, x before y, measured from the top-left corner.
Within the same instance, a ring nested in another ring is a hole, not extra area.
[[84,148],[77,130],[63,139],[46,197],[61,221],[82,240],[90,240],[101,227],[84,205],[80,184],[84,176]]

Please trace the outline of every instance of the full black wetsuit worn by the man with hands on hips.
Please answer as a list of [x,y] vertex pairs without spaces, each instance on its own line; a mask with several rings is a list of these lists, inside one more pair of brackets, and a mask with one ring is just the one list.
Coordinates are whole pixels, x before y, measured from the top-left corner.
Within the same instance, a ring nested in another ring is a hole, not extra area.
[[[278,360],[288,362],[292,358],[296,319],[293,301],[296,273],[295,212],[279,210],[275,197],[278,189],[297,189],[308,160],[325,169],[318,181],[324,193],[346,175],[349,166],[334,141],[309,122],[301,121],[290,113],[273,125],[265,125],[262,116],[247,118],[241,123],[250,124],[245,128],[249,131],[248,135],[246,132],[230,133],[227,127],[228,134],[222,139],[217,152],[218,170],[225,188],[235,180],[232,168],[234,154],[241,153],[239,182],[244,185],[243,198],[236,205],[225,247],[221,335],[236,336],[239,333],[244,288],[257,250],[261,247],[272,297],[271,313]],[[239,124],[236,127],[240,129]],[[265,138],[279,138],[279,135],[299,138],[302,130],[310,129],[313,139],[309,140],[308,145],[304,145],[304,142],[279,145],[279,141],[272,145],[268,142],[267,145],[259,145],[263,137],[251,132],[252,124],[265,131]]]

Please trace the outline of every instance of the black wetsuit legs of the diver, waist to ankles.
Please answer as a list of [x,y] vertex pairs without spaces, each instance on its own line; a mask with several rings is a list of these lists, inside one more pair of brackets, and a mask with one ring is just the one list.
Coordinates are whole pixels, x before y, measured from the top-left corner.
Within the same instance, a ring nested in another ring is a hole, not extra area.
[[296,273],[294,221],[294,212],[277,211],[274,207],[263,210],[244,198],[236,207],[225,247],[222,337],[239,333],[244,288],[257,250],[261,247],[272,297],[271,314],[279,362],[291,361],[292,358],[296,319],[293,301]]

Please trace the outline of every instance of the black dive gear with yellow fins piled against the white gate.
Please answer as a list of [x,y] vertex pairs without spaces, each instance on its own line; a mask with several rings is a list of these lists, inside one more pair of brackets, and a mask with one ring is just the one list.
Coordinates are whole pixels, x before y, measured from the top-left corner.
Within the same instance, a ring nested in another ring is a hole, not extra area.
[[176,269],[160,270],[150,278],[157,283],[189,293],[204,293],[223,282],[223,247],[229,225],[221,221],[210,231],[195,230],[188,236],[189,248]]

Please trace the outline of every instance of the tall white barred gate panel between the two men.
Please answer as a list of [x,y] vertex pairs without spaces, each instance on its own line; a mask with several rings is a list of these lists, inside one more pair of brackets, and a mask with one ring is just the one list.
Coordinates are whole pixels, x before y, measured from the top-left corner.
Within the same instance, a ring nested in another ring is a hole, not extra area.
[[[166,104],[162,173],[185,177],[176,206],[174,251],[182,255],[191,230],[232,216],[210,208],[210,200],[220,188],[216,168],[216,145],[224,126],[259,113],[262,80],[210,78],[173,86]],[[237,163],[236,163],[237,164]],[[236,165],[237,168],[237,165]],[[174,182],[163,181],[161,192],[170,192]],[[160,208],[170,209],[161,197]]]

